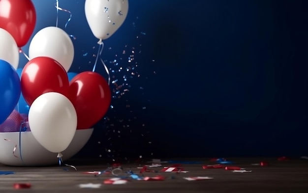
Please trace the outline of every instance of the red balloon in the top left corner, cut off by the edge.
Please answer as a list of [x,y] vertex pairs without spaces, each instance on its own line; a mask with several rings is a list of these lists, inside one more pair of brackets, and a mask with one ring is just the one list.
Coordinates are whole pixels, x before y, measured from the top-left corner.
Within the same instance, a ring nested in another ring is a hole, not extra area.
[[0,28],[8,31],[18,47],[29,41],[36,23],[31,0],[0,0]]

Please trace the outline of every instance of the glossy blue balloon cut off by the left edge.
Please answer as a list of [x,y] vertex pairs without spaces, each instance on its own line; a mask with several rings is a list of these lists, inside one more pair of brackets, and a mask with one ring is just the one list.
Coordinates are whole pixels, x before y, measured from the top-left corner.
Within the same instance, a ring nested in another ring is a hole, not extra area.
[[0,124],[16,107],[21,93],[20,79],[16,70],[0,59]]

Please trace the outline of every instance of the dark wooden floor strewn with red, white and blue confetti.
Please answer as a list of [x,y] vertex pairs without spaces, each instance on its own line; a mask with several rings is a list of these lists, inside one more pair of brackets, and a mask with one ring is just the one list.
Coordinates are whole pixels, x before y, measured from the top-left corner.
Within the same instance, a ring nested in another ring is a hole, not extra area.
[[[168,159],[170,160],[170,159]],[[175,160],[175,159],[173,159]],[[179,160],[179,159],[177,159]],[[145,176],[165,176],[164,181],[137,181],[131,179],[124,185],[105,185],[103,181],[112,174],[83,174],[84,171],[102,171],[107,168],[101,160],[69,160],[66,164],[77,167],[64,170],[58,165],[48,167],[12,167],[0,165],[0,171],[14,174],[0,175],[0,193],[16,192],[14,183],[31,183],[31,189],[19,192],[31,193],[308,193],[308,160],[293,159],[277,161],[276,158],[229,158],[235,166],[252,172],[235,173],[224,169],[203,169],[212,165],[209,159],[194,160],[202,164],[182,163],[187,173],[145,172]],[[166,160],[167,161],[167,160]],[[183,160],[179,160],[183,161]],[[251,165],[260,161],[269,166]],[[146,164],[146,163],[144,163]],[[142,164],[143,165],[143,164]],[[170,166],[172,164],[162,164]],[[137,164],[123,164],[123,170],[132,170],[139,175]],[[150,169],[161,170],[162,167]],[[188,181],[183,177],[208,176],[213,180]],[[79,184],[101,184],[98,189],[80,188]]]

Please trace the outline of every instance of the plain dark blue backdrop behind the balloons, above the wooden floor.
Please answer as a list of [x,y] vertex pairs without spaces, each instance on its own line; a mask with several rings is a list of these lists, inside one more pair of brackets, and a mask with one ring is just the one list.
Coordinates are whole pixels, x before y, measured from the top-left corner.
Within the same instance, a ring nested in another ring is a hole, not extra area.
[[[56,25],[55,2],[33,0],[34,33]],[[59,2],[72,13],[64,29],[69,14],[59,12],[59,27],[77,37],[70,71],[92,70],[97,39],[86,21],[85,1]],[[104,43],[102,58],[108,61],[132,47],[141,50],[135,55],[141,76],[113,100],[109,121],[95,126],[78,156],[308,152],[305,0],[130,0],[123,26]],[[20,66],[26,62],[23,58]],[[97,72],[106,77],[101,65]],[[130,129],[123,128],[127,122]]]

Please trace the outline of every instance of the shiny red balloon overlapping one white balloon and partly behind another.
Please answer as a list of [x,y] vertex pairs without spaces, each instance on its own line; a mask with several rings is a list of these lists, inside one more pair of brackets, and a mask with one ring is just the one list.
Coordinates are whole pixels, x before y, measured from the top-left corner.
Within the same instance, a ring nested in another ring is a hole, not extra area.
[[65,69],[50,57],[35,57],[24,67],[21,90],[25,101],[31,106],[33,101],[46,92],[69,94],[69,81]]

